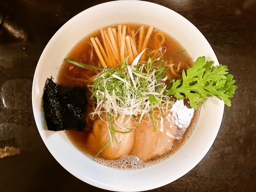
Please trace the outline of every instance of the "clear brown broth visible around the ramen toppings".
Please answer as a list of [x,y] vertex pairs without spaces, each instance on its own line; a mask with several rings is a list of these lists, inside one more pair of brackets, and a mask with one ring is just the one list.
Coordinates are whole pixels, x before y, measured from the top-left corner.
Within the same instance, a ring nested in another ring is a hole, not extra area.
[[[141,26],[141,24],[129,24],[125,23],[129,29],[134,29],[135,31]],[[112,25],[115,26],[115,25]],[[144,26],[147,30],[148,26]],[[153,39],[154,34],[159,31],[158,29],[153,30],[152,32],[152,37],[148,41],[148,49],[147,51],[150,51],[152,49],[158,48],[155,47],[155,41]],[[162,31],[161,31],[162,32]],[[174,69],[177,69],[178,64],[179,64],[179,70],[176,70],[176,73],[178,75],[181,75],[182,70],[186,70],[188,67],[192,65],[192,60],[190,56],[184,51],[184,48],[177,42],[175,41],[171,36],[168,34],[162,32],[165,36],[165,41],[162,44],[163,47],[166,47],[166,52],[163,55],[163,58],[170,58],[173,65]],[[80,61],[83,63],[87,64],[92,64],[92,65],[98,65],[99,59],[92,48],[90,42],[90,37],[91,36],[98,36],[99,41],[102,42],[102,39],[100,38],[100,32],[99,30],[94,31],[93,33],[85,36],[83,39],[81,39],[67,54],[66,58]],[[136,41],[138,39],[136,38]],[[92,53],[92,54],[91,54]],[[169,79],[177,79],[177,75],[173,75],[170,68],[167,69],[167,76]],[[63,62],[59,74],[58,74],[58,79],[57,82],[59,84],[65,85],[65,86],[87,86],[86,79],[88,76],[96,74],[96,71],[92,70],[87,70],[78,66],[75,66],[73,64],[70,64],[66,61]],[[91,103],[89,103],[89,106],[87,108],[88,113],[92,111],[92,106]],[[178,109],[177,109],[178,110]],[[193,115],[190,117],[191,122],[189,126],[182,127],[177,130],[177,137],[179,139],[176,139],[173,144],[173,148],[166,154],[161,155],[160,157],[153,158],[151,161],[155,161],[156,159],[164,159],[167,156],[171,155],[173,152],[175,152],[188,138],[190,133],[192,132],[192,129],[194,127],[194,124],[196,123],[196,117],[198,116],[198,111],[195,111]],[[66,130],[66,134],[70,138],[70,140],[73,142],[73,144],[80,149],[82,152],[85,154],[89,154],[91,156],[95,156],[95,154],[90,154],[90,152],[87,149],[86,146],[86,138],[88,133],[92,130],[93,126],[93,120],[87,119],[87,125],[84,127],[84,131],[78,132],[75,130]],[[93,157],[92,157],[93,158]],[[100,160],[99,160],[100,161]],[[157,161],[157,160],[156,160]],[[102,162],[102,161],[100,161]],[[112,163],[110,163],[112,164]],[[144,165],[143,165],[144,166]],[[120,167],[122,167],[120,165]],[[124,166],[127,167],[127,166]],[[132,166],[128,166],[132,167]]]

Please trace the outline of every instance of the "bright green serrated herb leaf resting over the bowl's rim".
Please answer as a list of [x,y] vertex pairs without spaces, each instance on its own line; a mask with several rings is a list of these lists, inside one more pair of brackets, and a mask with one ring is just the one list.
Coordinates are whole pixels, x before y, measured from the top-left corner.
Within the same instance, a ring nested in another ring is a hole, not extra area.
[[212,65],[213,61],[206,61],[204,56],[198,57],[192,67],[182,71],[182,79],[172,81],[169,94],[177,99],[188,98],[194,109],[209,96],[216,96],[231,106],[229,98],[237,88],[233,84],[235,80],[228,74],[226,65]]

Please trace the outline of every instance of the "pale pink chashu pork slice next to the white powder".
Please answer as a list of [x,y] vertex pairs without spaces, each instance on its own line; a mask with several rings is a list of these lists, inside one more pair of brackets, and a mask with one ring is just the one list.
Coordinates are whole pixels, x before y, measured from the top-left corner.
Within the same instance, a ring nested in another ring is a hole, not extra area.
[[171,150],[176,135],[172,118],[170,111],[165,114],[154,112],[154,120],[151,115],[144,116],[134,131],[135,142],[131,154],[146,161]]

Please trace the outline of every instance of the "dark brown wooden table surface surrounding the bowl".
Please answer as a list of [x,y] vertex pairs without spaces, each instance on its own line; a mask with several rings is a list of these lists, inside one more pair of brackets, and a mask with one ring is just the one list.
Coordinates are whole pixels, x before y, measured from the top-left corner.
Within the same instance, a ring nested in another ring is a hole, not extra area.
[[[104,191],[58,164],[39,136],[31,107],[33,73],[48,40],[72,16],[104,1],[0,0],[1,192]],[[255,191],[255,0],[152,2],[190,20],[238,86],[206,156],[186,175],[152,191]]]

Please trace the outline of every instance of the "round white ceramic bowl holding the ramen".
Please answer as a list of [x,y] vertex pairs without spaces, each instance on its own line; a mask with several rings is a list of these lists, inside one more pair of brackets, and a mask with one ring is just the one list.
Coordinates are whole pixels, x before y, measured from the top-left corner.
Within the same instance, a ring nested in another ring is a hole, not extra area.
[[[56,79],[63,58],[90,32],[113,23],[152,24],[179,41],[193,60],[217,58],[200,31],[187,19],[164,6],[137,0],[111,1],[90,7],[67,21],[50,39],[38,61],[32,86],[32,106],[38,131],[54,158],[71,174],[91,185],[114,191],[142,191],[170,183],[191,170],[212,145],[224,104],[209,98],[203,104],[198,124],[188,141],[175,154],[154,166],[118,170],[100,165],[80,152],[63,131],[48,131],[42,109],[47,77]],[[212,167],[213,168],[213,167]]]

